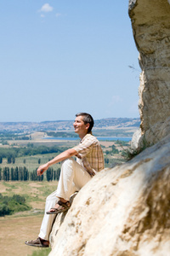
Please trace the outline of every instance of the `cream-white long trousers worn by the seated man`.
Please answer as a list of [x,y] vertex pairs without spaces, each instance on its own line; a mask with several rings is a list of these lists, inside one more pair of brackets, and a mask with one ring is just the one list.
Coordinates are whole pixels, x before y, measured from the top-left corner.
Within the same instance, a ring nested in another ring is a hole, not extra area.
[[54,223],[55,214],[46,214],[53,208],[60,198],[69,200],[70,196],[88,183],[92,177],[88,174],[76,160],[72,158],[63,161],[59,177],[58,188],[52,194],[48,195],[45,204],[45,213],[42,219],[42,226],[40,229],[39,237],[44,240],[49,240],[49,234]]

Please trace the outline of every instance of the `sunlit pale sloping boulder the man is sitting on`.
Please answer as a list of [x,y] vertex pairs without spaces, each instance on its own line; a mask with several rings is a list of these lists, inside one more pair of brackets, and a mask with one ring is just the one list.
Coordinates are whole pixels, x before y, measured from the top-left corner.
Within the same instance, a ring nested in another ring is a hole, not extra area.
[[49,255],[168,256],[169,188],[170,136],[93,177],[53,230]]

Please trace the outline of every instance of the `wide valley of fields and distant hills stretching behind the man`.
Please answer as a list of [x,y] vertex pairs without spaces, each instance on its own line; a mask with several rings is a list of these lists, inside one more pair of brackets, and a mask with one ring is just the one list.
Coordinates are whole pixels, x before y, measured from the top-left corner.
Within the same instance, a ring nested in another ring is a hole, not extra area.
[[[44,175],[43,181],[32,181],[30,178],[23,181],[20,180],[19,175],[18,180],[11,181],[11,169],[25,167],[31,175],[31,172],[36,172],[40,163],[47,162],[66,148],[74,147],[79,143],[79,137],[77,135],[75,137],[72,123],[73,120],[42,123],[0,123],[0,157],[2,157],[0,194],[3,197],[24,196],[26,205],[30,207],[28,211],[13,212],[13,214],[4,214],[0,217],[0,246],[3,248],[3,256],[17,256],[19,254],[24,256],[48,255],[49,250],[42,251],[35,247],[26,247],[24,242],[37,238],[45,199],[56,189],[57,179],[54,180],[53,177],[50,181],[47,181],[47,177]],[[138,128],[139,119],[102,119],[95,121],[94,135],[102,137],[100,143],[105,155],[105,167],[115,166],[125,161],[122,151],[129,147],[128,141]],[[111,137],[117,137],[117,139],[111,139]],[[121,142],[120,137],[127,137],[127,142]],[[111,140],[108,140],[108,138]],[[53,148],[54,152],[40,154],[38,150],[42,147],[43,150]],[[3,157],[5,152],[7,157]],[[8,162],[8,154],[14,154],[14,160],[11,162]],[[9,170],[9,179],[6,181],[3,179],[4,168]],[[57,172],[59,168],[60,164],[55,165],[54,171]]]

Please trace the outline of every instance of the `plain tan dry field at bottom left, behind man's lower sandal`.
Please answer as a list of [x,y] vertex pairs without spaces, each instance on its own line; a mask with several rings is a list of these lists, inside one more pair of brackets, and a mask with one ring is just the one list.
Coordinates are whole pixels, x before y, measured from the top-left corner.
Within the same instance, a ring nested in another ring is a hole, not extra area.
[[27,256],[35,250],[28,247],[25,241],[37,238],[42,215],[20,218],[0,218],[0,247],[2,256]]

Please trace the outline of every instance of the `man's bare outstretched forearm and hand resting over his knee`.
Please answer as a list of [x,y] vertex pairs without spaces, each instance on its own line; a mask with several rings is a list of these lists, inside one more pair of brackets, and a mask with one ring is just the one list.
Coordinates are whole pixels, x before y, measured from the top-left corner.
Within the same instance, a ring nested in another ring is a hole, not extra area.
[[43,172],[47,171],[49,166],[53,166],[54,164],[59,163],[62,160],[70,158],[73,155],[76,155],[77,151],[74,148],[70,148],[62,152],[61,154],[57,155],[53,160],[48,161],[48,163],[39,166],[37,169],[37,176],[41,176]]

